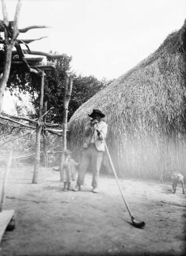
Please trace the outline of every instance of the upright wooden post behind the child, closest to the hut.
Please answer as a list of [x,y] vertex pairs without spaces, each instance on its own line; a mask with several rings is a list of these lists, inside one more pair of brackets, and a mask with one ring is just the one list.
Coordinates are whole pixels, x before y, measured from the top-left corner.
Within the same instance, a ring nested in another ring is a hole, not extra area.
[[60,180],[63,179],[63,162],[65,162],[65,151],[67,151],[67,121],[69,101],[72,93],[72,85],[75,74],[69,75],[66,71],[66,83],[63,94],[63,152],[60,163]]

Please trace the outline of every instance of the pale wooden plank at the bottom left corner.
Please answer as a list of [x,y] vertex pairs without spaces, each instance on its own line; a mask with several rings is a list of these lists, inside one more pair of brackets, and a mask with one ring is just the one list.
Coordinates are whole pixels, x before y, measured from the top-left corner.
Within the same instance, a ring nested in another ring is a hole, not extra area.
[[14,210],[5,210],[0,212],[0,242],[2,240],[2,236],[8,226],[10,220],[14,215]]

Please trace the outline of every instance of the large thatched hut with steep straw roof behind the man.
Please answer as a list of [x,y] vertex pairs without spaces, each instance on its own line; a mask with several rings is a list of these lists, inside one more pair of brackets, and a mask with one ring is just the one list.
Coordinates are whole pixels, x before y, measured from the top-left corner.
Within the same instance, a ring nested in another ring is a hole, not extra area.
[[106,114],[106,141],[118,174],[186,174],[186,20],[153,54],[76,110],[69,130],[77,152],[94,106]]

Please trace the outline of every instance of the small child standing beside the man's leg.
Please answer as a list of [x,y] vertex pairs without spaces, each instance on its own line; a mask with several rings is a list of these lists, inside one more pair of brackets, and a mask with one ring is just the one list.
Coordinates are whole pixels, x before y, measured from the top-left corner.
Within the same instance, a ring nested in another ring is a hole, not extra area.
[[76,166],[79,163],[75,162],[74,159],[71,158],[72,152],[67,150],[65,152],[65,162],[63,164],[63,182],[64,188],[63,191],[72,190],[71,182],[76,179]]

